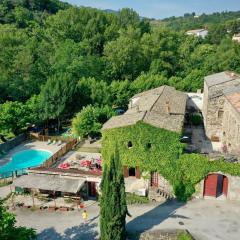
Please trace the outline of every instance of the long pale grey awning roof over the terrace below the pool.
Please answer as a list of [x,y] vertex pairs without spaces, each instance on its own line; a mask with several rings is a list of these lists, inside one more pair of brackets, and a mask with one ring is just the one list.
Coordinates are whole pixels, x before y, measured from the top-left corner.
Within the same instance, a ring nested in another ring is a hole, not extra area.
[[31,188],[48,191],[77,193],[86,179],[66,178],[59,175],[24,175],[14,180],[13,185],[20,188]]

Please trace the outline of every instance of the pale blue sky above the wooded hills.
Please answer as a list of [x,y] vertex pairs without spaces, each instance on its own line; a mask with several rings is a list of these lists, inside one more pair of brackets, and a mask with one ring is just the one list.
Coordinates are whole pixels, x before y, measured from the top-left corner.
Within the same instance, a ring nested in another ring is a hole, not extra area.
[[[64,1],[64,0],[63,0]],[[162,19],[196,14],[240,10],[240,0],[65,0],[77,6],[119,10],[133,8],[142,17]]]

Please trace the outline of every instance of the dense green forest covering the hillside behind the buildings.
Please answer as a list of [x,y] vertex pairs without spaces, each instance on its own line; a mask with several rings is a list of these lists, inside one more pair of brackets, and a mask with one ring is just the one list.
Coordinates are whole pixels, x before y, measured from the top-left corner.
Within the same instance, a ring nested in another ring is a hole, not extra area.
[[[161,85],[203,88],[203,77],[240,73],[240,12],[185,14],[154,24],[132,9],[115,14],[58,0],[0,2],[0,134],[27,124],[71,124],[80,136]],[[205,39],[185,31],[206,27]],[[79,123],[81,123],[79,126]]]

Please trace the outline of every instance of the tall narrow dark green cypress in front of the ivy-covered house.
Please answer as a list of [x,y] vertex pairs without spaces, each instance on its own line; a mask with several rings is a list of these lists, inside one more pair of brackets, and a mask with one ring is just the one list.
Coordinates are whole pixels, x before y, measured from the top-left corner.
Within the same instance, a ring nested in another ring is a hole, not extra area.
[[101,239],[125,240],[128,213],[122,164],[115,146],[110,163],[105,163],[100,200]]

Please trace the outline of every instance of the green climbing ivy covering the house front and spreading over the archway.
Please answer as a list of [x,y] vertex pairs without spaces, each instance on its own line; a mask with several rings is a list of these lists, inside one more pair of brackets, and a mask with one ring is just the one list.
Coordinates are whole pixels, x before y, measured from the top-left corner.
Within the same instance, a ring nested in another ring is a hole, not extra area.
[[[123,165],[139,166],[141,171],[157,171],[173,186],[176,197],[188,200],[195,186],[210,172],[240,175],[240,165],[223,160],[209,161],[201,154],[184,154],[184,144],[179,142],[180,133],[171,132],[146,124],[103,131],[103,159],[110,159],[116,141]],[[128,147],[131,142],[132,147]]]

